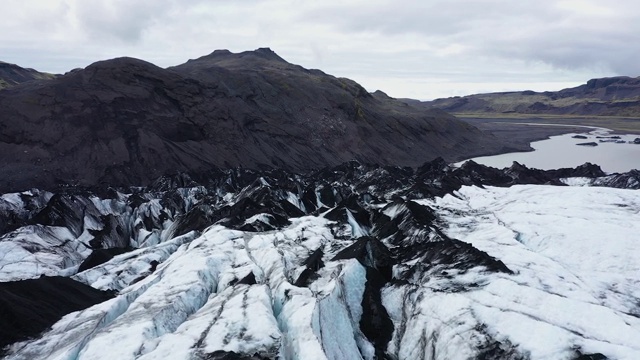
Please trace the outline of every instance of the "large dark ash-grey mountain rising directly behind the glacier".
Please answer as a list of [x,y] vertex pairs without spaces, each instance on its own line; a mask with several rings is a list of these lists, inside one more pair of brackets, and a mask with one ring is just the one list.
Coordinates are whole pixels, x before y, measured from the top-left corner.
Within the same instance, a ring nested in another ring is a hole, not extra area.
[[214,51],[168,69],[117,58],[0,92],[0,190],[147,185],[213,166],[419,166],[505,150],[440,110],[290,64]]

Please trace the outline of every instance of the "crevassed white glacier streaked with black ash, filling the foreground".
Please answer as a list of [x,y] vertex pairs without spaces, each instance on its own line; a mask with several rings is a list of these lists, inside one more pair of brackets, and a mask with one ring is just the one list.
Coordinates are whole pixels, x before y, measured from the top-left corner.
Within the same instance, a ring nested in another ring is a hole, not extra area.
[[591,164],[437,159],[4,194],[0,349],[29,360],[636,359],[638,188],[638,171]]

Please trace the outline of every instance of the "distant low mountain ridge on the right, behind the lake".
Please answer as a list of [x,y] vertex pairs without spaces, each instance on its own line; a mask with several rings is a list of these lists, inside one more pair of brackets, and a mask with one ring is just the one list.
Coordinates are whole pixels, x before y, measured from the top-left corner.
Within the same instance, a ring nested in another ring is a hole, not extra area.
[[591,79],[560,91],[501,92],[406,102],[452,113],[639,117],[640,77]]

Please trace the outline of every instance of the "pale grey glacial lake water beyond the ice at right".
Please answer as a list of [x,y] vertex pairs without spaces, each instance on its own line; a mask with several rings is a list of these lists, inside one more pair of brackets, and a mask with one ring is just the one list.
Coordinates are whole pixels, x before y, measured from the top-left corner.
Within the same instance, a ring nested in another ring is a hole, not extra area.
[[[630,144],[640,135],[616,135],[625,143],[600,142],[598,136],[613,136],[611,130],[590,128],[589,132],[552,136],[549,139],[531,143],[535,151],[515,152],[493,156],[482,156],[471,160],[496,168],[509,167],[514,161],[529,168],[543,170],[576,167],[585,162],[600,165],[606,173],[626,172],[640,169],[640,145]],[[587,139],[575,139],[574,135],[584,135]],[[578,143],[595,142],[598,146],[579,146]],[[463,161],[464,162],[464,161]],[[459,162],[456,165],[460,165]]]

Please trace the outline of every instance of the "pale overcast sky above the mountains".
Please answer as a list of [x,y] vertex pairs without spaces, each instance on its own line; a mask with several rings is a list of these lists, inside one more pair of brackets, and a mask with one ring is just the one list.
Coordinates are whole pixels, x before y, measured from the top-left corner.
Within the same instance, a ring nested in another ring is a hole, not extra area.
[[55,73],[270,47],[425,100],[640,75],[637,0],[3,0],[2,13],[0,60]]

